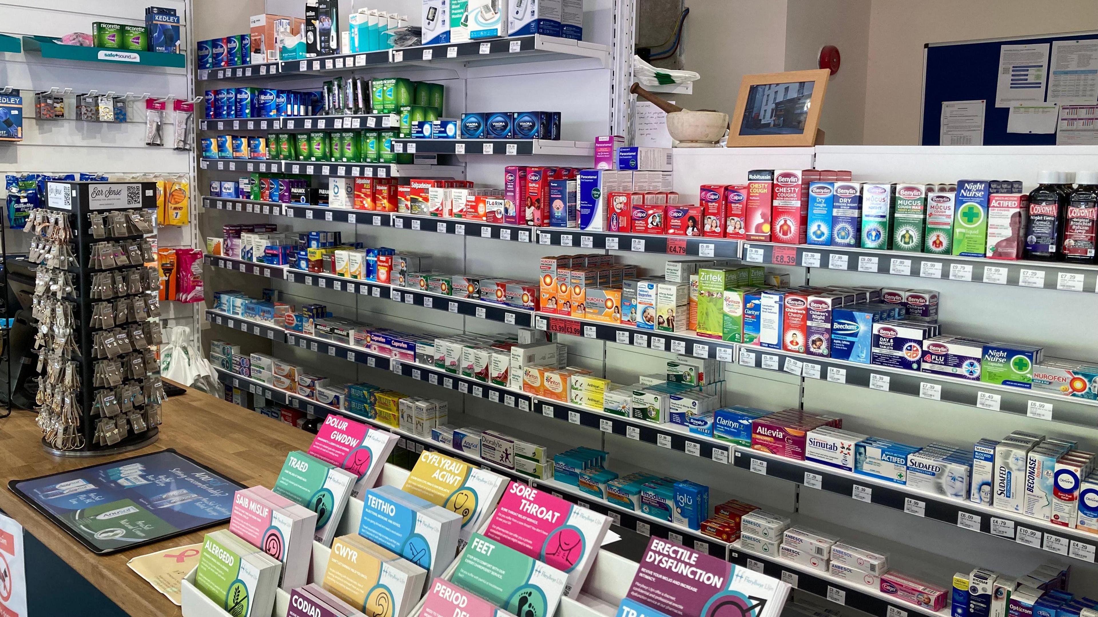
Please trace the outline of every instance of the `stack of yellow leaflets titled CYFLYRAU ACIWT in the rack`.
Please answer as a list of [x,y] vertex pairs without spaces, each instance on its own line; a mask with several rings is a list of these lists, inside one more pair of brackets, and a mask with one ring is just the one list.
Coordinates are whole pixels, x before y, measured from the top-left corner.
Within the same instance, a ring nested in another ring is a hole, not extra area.
[[437,452],[422,453],[404,484],[406,493],[460,514],[462,542],[484,523],[505,489],[504,476]]

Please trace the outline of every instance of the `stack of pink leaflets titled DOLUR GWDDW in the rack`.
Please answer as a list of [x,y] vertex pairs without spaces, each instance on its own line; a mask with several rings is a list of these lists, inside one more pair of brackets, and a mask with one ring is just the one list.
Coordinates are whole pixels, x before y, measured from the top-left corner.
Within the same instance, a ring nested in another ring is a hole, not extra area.
[[309,447],[309,455],[357,475],[351,495],[361,497],[378,483],[396,439],[392,433],[371,428],[339,414],[328,414]]

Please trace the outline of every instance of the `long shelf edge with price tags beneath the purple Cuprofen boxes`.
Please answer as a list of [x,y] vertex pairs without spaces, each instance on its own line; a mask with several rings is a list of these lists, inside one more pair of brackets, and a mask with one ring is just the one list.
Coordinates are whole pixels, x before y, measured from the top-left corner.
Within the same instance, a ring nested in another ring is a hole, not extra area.
[[278,326],[244,319],[213,308],[206,308],[205,318],[208,322],[223,325],[232,329],[238,329],[255,336],[269,338],[276,343],[294,345],[302,349],[309,349],[317,354],[333,356],[350,362],[366,364],[371,369],[389,370],[396,374],[411,377],[419,381],[426,381],[432,385],[441,385],[449,390],[457,390],[462,394],[472,394],[479,399],[488,399],[492,403],[501,403],[508,407],[516,407],[528,412],[534,408],[534,397],[519,389],[512,389],[478,381],[472,378],[460,377],[434,366],[421,364],[396,360],[388,356],[382,356],[363,347],[354,347],[324,340],[314,336],[304,335],[296,332],[289,332]]

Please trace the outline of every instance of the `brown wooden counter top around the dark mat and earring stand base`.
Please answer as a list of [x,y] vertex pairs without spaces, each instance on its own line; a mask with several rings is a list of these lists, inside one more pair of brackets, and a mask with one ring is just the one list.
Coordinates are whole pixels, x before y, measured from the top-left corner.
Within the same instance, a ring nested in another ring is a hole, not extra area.
[[[25,480],[71,469],[175,448],[199,463],[245,486],[272,486],[287,452],[306,450],[313,436],[193,389],[169,399],[163,407],[164,425],[156,444],[102,458],[59,458],[42,449],[35,415],[15,411],[0,419],[0,509],[57,553],[74,570],[99,587],[131,615],[181,615],[180,608],[126,566],[134,557],[202,541],[211,527],[114,554],[100,557],[60,527],[38,514],[8,489],[10,480]],[[227,527],[227,525],[225,525]]]

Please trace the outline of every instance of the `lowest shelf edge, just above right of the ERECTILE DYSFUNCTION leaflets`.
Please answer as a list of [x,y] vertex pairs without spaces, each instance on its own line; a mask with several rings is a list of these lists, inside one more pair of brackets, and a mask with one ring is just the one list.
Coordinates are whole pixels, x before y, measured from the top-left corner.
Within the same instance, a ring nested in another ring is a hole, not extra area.
[[908,617],[912,614],[932,617],[948,617],[950,615],[949,604],[935,613],[915,604],[898,602],[881,590],[845,581],[832,576],[829,572],[820,572],[808,565],[794,563],[775,556],[744,549],[740,546],[739,540],[728,549],[728,560],[737,565],[785,581],[803,592],[856,608],[876,617]]

